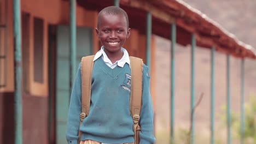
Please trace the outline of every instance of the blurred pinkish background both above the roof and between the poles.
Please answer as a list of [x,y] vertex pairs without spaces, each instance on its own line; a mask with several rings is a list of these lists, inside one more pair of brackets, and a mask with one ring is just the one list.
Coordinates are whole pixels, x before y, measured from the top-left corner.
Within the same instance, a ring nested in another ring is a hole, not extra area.
[[[254,0],[185,0],[191,7],[200,10],[212,20],[218,22],[227,31],[234,34],[241,41],[256,46],[256,1]],[[171,41],[156,38],[156,136],[158,143],[168,143],[170,140],[170,70]],[[177,45],[176,48],[176,100],[175,100],[175,131],[178,143],[184,142],[184,133],[190,128],[190,46]],[[195,95],[199,100],[201,93],[203,98],[195,110],[195,141],[196,143],[210,143],[210,99],[211,99],[211,51],[199,47],[195,53]],[[226,55],[216,53],[216,142],[226,143]],[[238,118],[240,116],[241,100],[241,60],[230,59],[230,91],[231,112]],[[164,69],[164,70],[163,70]],[[256,62],[246,60],[245,64],[245,100],[248,104],[251,98],[256,97]],[[255,107],[255,106],[254,106]],[[247,110],[249,111],[249,110]],[[255,108],[254,121],[256,121]],[[240,119],[236,119],[240,122]],[[255,122],[254,122],[255,124]],[[233,125],[233,127],[236,127]],[[250,126],[248,126],[250,127]],[[252,126],[255,129],[255,126]],[[239,143],[237,136],[240,130],[232,130],[233,143]],[[255,133],[255,132],[254,132]],[[247,143],[255,143],[251,137]]]

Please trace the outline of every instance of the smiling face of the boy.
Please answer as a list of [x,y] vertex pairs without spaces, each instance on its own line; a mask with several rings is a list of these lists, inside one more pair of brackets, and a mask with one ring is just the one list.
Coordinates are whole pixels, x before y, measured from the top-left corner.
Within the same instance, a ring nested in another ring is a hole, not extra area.
[[101,14],[96,28],[97,37],[108,53],[120,53],[125,40],[130,36],[130,28],[123,14]]

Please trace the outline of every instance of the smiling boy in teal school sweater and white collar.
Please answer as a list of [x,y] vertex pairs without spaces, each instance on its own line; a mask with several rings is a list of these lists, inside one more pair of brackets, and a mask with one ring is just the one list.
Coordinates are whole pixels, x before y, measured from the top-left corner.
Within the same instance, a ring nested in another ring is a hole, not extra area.
[[[131,70],[128,52],[122,47],[130,36],[126,12],[107,7],[98,14],[96,28],[101,50],[94,57],[91,80],[89,115],[80,125],[81,67],[72,89],[66,137],[69,144],[77,144],[79,129],[85,143],[133,143],[133,121],[130,115]],[[143,65],[142,108],[139,125],[140,143],[154,143],[153,106],[149,92],[148,67]]]

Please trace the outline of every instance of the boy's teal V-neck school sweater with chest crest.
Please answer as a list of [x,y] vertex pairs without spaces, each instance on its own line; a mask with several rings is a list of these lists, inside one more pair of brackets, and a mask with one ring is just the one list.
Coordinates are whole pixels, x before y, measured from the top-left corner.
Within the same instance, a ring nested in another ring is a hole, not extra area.
[[[68,144],[77,144],[81,112],[80,64],[74,81],[68,112],[66,138]],[[143,65],[142,109],[140,143],[154,143],[153,106],[149,91],[148,67]],[[94,63],[91,80],[91,105],[89,116],[80,126],[82,140],[103,143],[130,143],[133,139],[133,121],[130,114],[131,70],[129,64],[123,68],[109,68],[102,58]]]

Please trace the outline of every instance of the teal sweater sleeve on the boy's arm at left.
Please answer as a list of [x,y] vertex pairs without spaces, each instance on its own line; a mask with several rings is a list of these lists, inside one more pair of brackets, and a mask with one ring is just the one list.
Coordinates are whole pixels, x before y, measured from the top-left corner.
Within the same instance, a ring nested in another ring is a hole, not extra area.
[[77,76],[73,83],[68,119],[67,119],[67,131],[66,139],[68,144],[77,144],[78,142],[78,130],[80,124],[80,112],[81,112],[81,65],[79,64],[77,70]]

